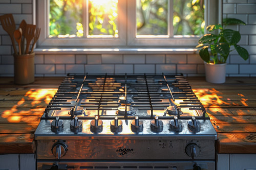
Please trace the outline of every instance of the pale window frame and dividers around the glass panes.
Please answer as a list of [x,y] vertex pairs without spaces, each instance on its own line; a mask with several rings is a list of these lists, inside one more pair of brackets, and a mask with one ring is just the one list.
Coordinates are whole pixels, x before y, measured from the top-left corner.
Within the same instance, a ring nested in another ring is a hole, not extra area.
[[[169,1],[169,0],[168,0]],[[167,37],[160,38],[156,37],[136,37],[137,23],[136,23],[136,0],[119,0],[118,2],[118,38],[49,38],[48,28],[49,26],[49,0],[37,0],[36,1],[36,18],[37,26],[41,28],[41,35],[38,39],[37,47],[48,47],[48,46],[63,46],[63,47],[104,47],[104,46],[115,46],[115,47],[134,47],[134,46],[168,46],[168,47],[191,47],[198,43],[199,37],[186,36],[172,36],[172,28],[168,23],[168,35]],[[172,2],[169,7],[172,6]],[[85,4],[87,5],[87,4]],[[205,0],[205,28],[206,26],[214,23],[219,23],[222,18],[222,0],[212,1]],[[88,9],[84,10],[86,22],[88,22]],[[127,18],[126,18],[127,16]],[[120,19],[125,18],[125,19]],[[173,12],[168,11],[168,18],[173,18]],[[84,23],[83,23],[84,24]],[[84,28],[84,33],[88,34],[88,28]],[[206,29],[205,29],[206,31]]]

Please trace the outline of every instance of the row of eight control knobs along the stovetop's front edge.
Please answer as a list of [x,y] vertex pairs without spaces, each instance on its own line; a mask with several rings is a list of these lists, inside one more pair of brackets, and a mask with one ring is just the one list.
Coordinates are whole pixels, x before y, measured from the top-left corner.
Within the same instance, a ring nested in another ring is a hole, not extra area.
[[[93,133],[100,133],[103,129],[103,122],[99,119],[98,116],[95,116],[95,119],[91,120],[91,126],[90,130]],[[189,129],[193,132],[199,132],[200,131],[200,122],[195,117],[192,117],[188,120],[187,125]],[[170,129],[175,132],[181,132],[182,131],[182,122],[177,118],[177,116],[174,117],[174,119],[170,120],[169,122]],[[159,120],[156,116],[154,119],[150,122],[150,127],[153,132],[161,132],[163,130],[163,122],[162,120]],[[143,131],[143,121],[139,120],[139,117],[136,116],[135,119],[131,121],[131,129],[133,132],[142,132]],[[58,133],[63,131],[63,120],[59,119],[59,117],[56,117],[55,120],[51,123],[51,130],[52,132]],[[74,133],[78,133],[82,131],[82,120],[78,119],[77,116],[74,117],[74,119],[70,122],[70,130]],[[114,120],[111,120],[110,122],[110,130],[113,133],[118,133],[122,131],[122,120],[119,120],[118,117],[115,117]]]

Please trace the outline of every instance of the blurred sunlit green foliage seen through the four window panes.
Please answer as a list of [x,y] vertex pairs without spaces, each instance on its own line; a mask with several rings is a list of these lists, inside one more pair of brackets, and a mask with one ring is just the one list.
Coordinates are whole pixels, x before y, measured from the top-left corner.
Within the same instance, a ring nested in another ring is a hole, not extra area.
[[[50,0],[50,37],[118,37],[118,0],[89,0],[89,25],[83,26],[86,0]],[[137,35],[167,35],[170,0],[137,0]],[[204,33],[204,0],[173,0],[174,35]]]

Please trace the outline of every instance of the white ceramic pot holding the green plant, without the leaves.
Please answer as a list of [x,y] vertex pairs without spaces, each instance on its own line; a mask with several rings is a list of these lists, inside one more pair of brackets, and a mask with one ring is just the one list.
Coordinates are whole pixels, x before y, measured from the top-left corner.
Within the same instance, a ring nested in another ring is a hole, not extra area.
[[204,62],[205,78],[207,82],[221,84],[226,81],[226,63],[211,64]]

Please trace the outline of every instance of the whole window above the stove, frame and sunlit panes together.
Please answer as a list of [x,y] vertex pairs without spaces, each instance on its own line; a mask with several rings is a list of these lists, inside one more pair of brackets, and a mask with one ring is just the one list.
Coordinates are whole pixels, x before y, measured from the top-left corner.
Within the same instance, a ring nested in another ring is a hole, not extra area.
[[38,27],[44,33],[38,44],[195,46],[205,20],[216,20],[217,6],[210,0],[37,1]]

